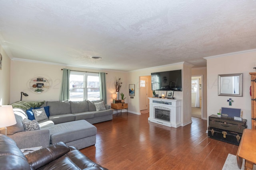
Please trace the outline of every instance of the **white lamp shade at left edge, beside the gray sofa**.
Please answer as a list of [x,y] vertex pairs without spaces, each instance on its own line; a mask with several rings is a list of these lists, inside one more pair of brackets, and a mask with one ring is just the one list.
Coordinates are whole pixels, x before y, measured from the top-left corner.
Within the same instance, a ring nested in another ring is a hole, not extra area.
[[11,105],[0,106],[0,127],[16,124],[16,119]]

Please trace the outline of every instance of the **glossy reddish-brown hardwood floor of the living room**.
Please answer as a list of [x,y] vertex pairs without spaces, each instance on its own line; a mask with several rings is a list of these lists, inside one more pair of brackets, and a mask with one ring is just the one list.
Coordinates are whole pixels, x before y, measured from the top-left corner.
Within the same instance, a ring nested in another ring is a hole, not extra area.
[[238,146],[209,139],[207,121],[192,117],[184,127],[148,121],[148,113],[113,115],[94,124],[95,146],[80,151],[109,170],[221,170]]

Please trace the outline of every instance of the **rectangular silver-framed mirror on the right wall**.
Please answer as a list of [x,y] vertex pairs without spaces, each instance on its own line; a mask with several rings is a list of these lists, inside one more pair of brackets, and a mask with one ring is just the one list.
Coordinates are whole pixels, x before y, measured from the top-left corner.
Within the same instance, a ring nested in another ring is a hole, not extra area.
[[218,75],[219,96],[243,96],[243,74]]

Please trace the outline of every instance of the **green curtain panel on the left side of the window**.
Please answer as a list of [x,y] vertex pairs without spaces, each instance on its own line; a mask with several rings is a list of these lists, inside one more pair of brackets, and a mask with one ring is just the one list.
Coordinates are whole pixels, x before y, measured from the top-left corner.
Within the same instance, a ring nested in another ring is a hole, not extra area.
[[70,69],[63,68],[60,101],[69,99],[69,76]]

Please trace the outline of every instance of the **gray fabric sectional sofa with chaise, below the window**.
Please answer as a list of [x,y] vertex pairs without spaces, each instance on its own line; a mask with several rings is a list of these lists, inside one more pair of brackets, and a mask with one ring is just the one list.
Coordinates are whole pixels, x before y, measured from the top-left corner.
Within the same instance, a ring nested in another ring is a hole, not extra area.
[[[7,127],[8,137],[22,148],[48,147],[56,142],[82,149],[96,143],[97,129],[93,123],[112,120],[113,109],[105,105],[98,111],[97,101],[48,101],[48,102],[16,102],[12,104],[16,117],[16,125]],[[49,106],[49,107],[48,107]],[[49,108],[47,119],[38,121],[40,130],[25,131],[22,121],[28,118],[28,108]]]

